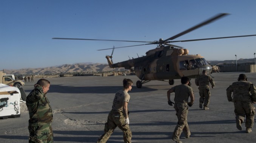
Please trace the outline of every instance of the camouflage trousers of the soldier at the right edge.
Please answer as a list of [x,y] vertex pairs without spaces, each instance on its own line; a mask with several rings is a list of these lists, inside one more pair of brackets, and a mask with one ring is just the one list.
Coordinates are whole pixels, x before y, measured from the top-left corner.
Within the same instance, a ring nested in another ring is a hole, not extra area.
[[244,122],[244,117],[246,117],[245,127],[252,128],[254,123],[255,107],[252,102],[234,102],[234,113],[236,114],[236,119],[240,119],[241,123]]

